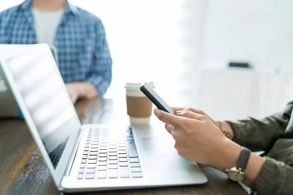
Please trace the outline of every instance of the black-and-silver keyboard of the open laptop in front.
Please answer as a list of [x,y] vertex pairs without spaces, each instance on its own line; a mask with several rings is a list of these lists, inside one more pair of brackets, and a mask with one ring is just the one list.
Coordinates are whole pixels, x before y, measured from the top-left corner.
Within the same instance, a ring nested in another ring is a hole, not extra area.
[[131,128],[125,134],[90,129],[78,179],[143,177]]

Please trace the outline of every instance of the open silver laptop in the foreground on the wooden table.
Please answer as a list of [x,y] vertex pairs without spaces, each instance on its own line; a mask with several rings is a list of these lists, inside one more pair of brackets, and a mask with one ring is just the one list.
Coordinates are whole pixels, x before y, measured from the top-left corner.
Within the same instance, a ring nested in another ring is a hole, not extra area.
[[178,156],[164,124],[81,125],[47,45],[0,47],[0,54],[10,88],[60,191],[207,182],[195,162]]

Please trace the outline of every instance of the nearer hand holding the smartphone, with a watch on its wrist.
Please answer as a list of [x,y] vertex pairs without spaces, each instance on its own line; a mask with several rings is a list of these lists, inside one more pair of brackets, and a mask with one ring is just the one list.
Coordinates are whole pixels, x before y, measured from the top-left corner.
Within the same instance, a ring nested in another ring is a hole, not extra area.
[[[236,164],[240,146],[225,137],[209,117],[188,110],[177,116],[159,109],[154,113],[166,123],[179,156],[220,170]],[[228,158],[230,162],[224,162]]]

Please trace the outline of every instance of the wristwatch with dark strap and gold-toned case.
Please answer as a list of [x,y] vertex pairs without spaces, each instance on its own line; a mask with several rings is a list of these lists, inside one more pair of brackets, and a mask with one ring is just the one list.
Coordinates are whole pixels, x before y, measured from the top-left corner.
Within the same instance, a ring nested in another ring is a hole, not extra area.
[[250,157],[251,151],[245,147],[241,147],[240,156],[238,158],[237,164],[226,169],[227,175],[233,181],[243,181],[245,179],[246,166]]

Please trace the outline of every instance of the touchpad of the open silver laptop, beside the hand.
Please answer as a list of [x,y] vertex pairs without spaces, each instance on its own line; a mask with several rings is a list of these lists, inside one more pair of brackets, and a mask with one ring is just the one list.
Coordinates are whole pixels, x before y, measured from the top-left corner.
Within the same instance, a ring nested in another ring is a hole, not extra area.
[[168,138],[142,138],[142,144],[147,157],[177,155],[174,143],[174,140]]

